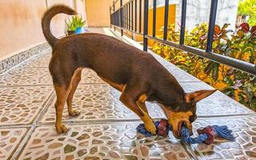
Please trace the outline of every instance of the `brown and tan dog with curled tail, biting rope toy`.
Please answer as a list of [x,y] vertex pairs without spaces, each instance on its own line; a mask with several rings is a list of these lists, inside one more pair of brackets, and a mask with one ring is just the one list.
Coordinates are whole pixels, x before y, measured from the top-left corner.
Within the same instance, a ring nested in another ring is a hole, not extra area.
[[196,117],[196,102],[216,90],[200,90],[186,94],[165,67],[152,55],[104,34],[78,34],[57,39],[50,33],[50,20],[56,14],[76,14],[67,6],[52,6],[42,18],[42,30],[53,49],[49,70],[57,94],[56,130],[65,133],[62,110],[65,102],[71,116],[74,92],[81,79],[82,69],[94,70],[102,80],[122,92],[120,101],[142,119],[146,130],[156,134],[145,102],[158,102],[176,138],[184,122],[192,133],[191,122]]

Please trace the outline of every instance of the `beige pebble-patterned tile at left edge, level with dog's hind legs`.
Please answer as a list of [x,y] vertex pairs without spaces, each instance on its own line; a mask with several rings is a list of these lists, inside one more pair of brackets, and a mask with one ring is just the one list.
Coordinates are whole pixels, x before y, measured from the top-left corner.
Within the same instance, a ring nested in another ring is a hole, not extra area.
[[0,90],[0,126],[30,124],[53,92],[51,86],[7,86]]

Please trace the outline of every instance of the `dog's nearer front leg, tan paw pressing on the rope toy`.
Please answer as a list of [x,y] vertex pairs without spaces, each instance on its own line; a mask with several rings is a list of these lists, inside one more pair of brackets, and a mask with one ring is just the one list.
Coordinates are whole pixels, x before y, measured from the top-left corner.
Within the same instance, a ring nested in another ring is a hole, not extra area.
[[136,96],[130,96],[130,95],[134,95],[131,93],[132,93],[131,90],[126,90],[126,89],[123,90],[120,97],[120,101],[124,105],[126,105],[130,110],[132,110],[135,114],[137,114],[139,118],[142,119],[147,131],[149,131],[151,134],[156,134],[157,129],[154,126],[153,119],[150,118],[150,115],[147,113],[146,105],[145,107],[138,106],[139,104],[143,104],[143,102],[139,102],[138,100],[134,99],[134,97]]

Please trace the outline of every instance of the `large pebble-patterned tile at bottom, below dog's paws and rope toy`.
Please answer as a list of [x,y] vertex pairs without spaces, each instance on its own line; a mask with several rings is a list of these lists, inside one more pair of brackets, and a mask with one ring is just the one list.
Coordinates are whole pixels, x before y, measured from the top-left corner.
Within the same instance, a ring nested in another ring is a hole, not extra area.
[[137,123],[72,125],[68,134],[40,126],[19,159],[190,159],[181,144],[169,138],[145,138]]

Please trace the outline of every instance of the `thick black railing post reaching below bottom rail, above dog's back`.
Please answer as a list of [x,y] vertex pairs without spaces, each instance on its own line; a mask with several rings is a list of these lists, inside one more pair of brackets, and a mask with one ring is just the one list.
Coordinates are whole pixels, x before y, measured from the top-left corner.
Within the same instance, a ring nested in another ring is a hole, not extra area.
[[148,17],[149,17],[149,0],[144,0],[144,29],[143,29],[143,50],[147,51],[147,38],[148,34]]

